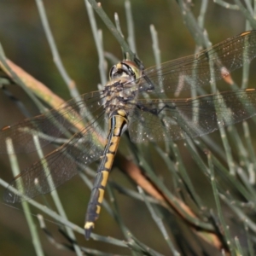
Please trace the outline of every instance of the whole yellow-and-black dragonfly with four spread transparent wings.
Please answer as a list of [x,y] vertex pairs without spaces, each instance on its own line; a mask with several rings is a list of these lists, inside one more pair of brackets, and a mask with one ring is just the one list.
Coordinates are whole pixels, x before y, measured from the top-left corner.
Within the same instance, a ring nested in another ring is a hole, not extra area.
[[[168,98],[168,93],[198,89],[230,73],[256,56],[256,31],[233,38],[160,67],[140,69],[125,59],[110,70],[103,90],[86,93],[57,109],[25,119],[0,131],[0,153],[11,138],[15,153],[32,152],[35,138],[41,147],[57,137],[72,135],[53,152],[20,172],[9,184],[4,200],[20,202],[49,193],[73,177],[81,166],[100,160],[85,215],[89,239],[99,217],[104,190],[121,135],[128,131],[133,143],[175,141],[201,137],[220,127],[255,115],[256,90],[230,90],[190,98]],[[45,172],[47,171],[47,172]]]

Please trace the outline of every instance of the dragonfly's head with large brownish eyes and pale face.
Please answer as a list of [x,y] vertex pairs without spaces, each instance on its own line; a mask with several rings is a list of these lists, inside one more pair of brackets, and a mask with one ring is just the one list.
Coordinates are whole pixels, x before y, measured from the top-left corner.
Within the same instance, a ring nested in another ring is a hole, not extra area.
[[109,78],[111,80],[119,78],[136,80],[140,76],[141,71],[132,61],[121,61],[118,64],[114,65],[109,72]]

